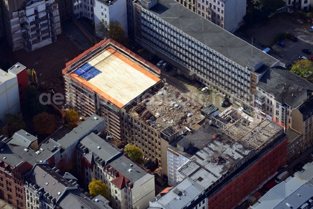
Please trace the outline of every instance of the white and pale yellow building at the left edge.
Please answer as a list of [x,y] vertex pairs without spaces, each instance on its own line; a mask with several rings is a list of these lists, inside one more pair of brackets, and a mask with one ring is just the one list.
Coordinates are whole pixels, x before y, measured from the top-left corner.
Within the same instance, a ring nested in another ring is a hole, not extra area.
[[18,114],[21,111],[18,78],[12,72],[0,69],[0,120],[7,113]]

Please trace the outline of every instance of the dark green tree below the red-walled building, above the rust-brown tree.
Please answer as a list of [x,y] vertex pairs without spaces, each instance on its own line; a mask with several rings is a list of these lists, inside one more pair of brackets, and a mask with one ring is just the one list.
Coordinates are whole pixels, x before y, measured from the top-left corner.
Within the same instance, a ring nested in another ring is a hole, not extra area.
[[28,86],[26,88],[26,98],[23,104],[23,113],[31,117],[47,110],[47,107],[40,103],[39,94],[34,86]]

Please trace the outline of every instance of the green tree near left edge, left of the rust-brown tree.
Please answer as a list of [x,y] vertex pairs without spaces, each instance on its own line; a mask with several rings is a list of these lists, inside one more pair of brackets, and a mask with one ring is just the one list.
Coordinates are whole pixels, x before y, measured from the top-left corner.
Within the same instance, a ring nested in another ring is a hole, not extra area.
[[21,115],[13,115],[11,113],[5,114],[3,122],[8,125],[8,137],[12,137],[16,131],[24,129],[26,127],[25,122]]

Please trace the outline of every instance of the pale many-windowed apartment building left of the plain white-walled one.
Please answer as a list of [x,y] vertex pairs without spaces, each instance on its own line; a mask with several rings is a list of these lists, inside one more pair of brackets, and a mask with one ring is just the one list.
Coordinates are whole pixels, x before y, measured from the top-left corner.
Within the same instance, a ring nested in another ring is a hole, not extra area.
[[85,17],[94,20],[94,0],[73,0],[73,15],[75,18]]

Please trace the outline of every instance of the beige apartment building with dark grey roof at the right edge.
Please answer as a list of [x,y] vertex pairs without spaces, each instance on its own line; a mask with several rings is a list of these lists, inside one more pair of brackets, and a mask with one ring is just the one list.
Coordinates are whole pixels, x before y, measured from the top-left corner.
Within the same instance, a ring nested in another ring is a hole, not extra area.
[[313,84],[282,67],[268,70],[254,93],[254,113],[303,134],[302,149],[312,144]]

